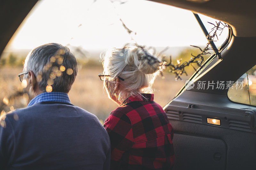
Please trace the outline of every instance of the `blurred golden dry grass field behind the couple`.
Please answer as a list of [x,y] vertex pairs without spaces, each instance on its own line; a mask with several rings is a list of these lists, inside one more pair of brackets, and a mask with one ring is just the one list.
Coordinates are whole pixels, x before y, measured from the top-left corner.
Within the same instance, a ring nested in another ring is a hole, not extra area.
[[[93,113],[104,121],[117,105],[108,99],[107,93],[103,89],[103,81],[98,77],[102,70],[101,67],[80,69],[68,95],[74,105]],[[1,101],[4,97],[7,98],[17,90],[22,89],[18,78],[18,74],[21,72],[22,67],[4,66],[0,68]],[[155,101],[164,107],[165,104],[172,100],[188,78],[183,78],[183,81],[175,81],[174,75],[170,73],[164,73],[164,79],[162,77],[156,78],[154,84]],[[12,107],[14,109],[26,107],[27,103],[26,96],[17,97],[14,101],[9,101],[8,107],[5,107],[5,112],[9,112]]]

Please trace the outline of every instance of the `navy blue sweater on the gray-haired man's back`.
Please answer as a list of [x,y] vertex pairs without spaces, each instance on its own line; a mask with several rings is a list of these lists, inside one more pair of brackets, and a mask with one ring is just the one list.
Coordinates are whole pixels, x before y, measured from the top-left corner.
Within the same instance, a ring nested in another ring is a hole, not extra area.
[[98,118],[68,103],[41,102],[6,115],[0,169],[109,169],[110,140]]

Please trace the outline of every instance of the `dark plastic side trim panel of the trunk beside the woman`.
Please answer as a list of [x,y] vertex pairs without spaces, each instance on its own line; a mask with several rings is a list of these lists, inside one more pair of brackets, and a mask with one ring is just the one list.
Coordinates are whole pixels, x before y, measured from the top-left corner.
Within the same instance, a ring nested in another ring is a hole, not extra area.
[[[164,107],[173,129],[173,169],[254,169],[256,107],[186,90]],[[220,119],[221,125],[207,123]]]

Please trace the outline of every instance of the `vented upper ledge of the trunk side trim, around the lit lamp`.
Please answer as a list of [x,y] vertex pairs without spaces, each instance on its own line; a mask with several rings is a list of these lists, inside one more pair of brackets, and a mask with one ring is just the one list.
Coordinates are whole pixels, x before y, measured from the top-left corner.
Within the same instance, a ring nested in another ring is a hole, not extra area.
[[[197,95],[200,95],[198,99],[201,99],[201,101],[189,99]],[[214,94],[186,91],[164,107],[166,115],[169,120],[179,120],[256,133],[255,107],[233,104],[224,95],[215,95],[214,97],[212,95]],[[216,104],[211,99],[215,99]],[[222,106],[220,102],[222,102]],[[236,107],[233,105],[236,105]],[[237,108],[239,106],[241,107]],[[209,124],[207,123],[207,118],[220,119],[221,125]]]

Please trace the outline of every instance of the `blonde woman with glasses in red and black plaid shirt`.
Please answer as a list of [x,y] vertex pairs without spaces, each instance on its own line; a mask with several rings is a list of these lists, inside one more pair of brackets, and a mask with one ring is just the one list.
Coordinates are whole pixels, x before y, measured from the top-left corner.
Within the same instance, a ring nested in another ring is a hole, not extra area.
[[108,97],[119,107],[104,122],[111,141],[111,169],[170,169],[174,162],[173,129],[151,86],[160,58],[144,47],[126,45],[103,57]]

